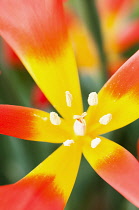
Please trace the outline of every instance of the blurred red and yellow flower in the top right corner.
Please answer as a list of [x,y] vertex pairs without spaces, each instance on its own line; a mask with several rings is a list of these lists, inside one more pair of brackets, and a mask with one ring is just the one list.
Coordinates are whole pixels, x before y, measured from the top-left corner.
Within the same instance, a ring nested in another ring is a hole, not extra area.
[[138,19],[129,18],[136,7],[136,2],[134,0],[116,0],[114,2],[112,0],[97,0],[107,52],[113,52],[113,54],[122,52],[138,43],[139,39],[135,34],[135,32],[138,34]]

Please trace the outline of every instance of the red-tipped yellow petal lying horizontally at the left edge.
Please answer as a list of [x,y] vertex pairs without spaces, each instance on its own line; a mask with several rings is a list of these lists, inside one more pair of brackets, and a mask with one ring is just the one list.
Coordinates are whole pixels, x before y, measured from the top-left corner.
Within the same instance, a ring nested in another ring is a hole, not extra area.
[[62,120],[60,125],[50,122],[49,114],[22,106],[0,105],[0,133],[33,141],[61,143],[71,138]]

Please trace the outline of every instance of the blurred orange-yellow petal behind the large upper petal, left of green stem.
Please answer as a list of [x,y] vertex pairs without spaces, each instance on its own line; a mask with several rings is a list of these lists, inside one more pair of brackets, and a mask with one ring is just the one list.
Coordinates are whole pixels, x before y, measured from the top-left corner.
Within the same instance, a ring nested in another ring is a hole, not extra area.
[[67,23],[78,67],[83,71],[93,71],[99,64],[95,42],[82,21],[71,11],[67,11]]

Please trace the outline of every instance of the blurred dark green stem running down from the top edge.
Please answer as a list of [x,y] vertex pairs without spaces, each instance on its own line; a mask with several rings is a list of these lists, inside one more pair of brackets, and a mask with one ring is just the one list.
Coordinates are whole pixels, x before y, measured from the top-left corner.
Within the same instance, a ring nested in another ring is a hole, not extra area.
[[81,17],[85,20],[93,39],[95,39],[100,58],[100,68],[102,70],[103,77],[102,80],[103,83],[105,83],[108,79],[107,59],[95,0],[75,0],[75,4],[77,10],[79,11],[79,15],[81,15]]

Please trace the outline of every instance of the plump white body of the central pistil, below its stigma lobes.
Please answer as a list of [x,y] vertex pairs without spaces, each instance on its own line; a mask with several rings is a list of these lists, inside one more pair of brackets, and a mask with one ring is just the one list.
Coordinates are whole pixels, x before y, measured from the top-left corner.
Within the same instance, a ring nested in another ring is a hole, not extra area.
[[84,136],[86,131],[86,122],[84,119],[76,120],[73,126],[74,132],[77,136]]

